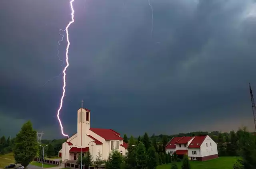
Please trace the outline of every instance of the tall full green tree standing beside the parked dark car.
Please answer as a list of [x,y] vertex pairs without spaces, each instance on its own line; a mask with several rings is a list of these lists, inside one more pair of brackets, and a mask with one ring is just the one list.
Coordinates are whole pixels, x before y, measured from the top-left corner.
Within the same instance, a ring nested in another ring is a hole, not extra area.
[[27,167],[38,151],[36,131],[30,121],[23,124],[15,139],[14,159],[16,163]]

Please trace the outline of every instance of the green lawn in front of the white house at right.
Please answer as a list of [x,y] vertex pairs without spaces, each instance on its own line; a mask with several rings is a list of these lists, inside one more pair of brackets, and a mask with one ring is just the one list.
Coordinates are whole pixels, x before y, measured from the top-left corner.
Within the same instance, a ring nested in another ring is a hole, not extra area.
[[[191,169],[233,169],[238,157],[219,157],[209,161],[190,161]],[[177,162],[181,169],[182,162]],[[171,164],[158,165],[157,169],[171,169]]]

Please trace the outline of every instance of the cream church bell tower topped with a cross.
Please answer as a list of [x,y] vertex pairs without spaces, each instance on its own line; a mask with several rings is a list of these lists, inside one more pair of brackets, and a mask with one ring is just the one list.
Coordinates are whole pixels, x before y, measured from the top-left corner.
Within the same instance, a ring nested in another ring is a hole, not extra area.
[[90,130],[90,110],[82,107],[77,110],[77,145],[86,147],[86,134]]

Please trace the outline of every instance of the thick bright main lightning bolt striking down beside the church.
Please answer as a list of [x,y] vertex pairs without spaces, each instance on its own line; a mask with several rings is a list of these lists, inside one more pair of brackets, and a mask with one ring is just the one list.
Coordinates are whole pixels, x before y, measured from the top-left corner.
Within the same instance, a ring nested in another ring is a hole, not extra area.
[[67,68],[68,68],[68,66],[69,66],[69,63],[68,63],[68,49],[69,49],[70,41],[69,41],[69,35],[68,35],[68,28],[69,28],[69,26],[70,26],[71,24],[73,24],[73,23],[75,22],[75,20],[74,20],[73,2],[74,2],[74,0],[71,0],[71,1],[70,1],[70,9],[71,9],[71,11],[72,11],[72,12],[71,12],[71,19],[72,19],[72,21],[70,21],[70,22],[68,23],[68,25],[66,26],[66,29],[65,29],[65,30],[66,30],[66,36],[67,36],[67,42],[68,42],[68,45],[67,45],[67,48],[66,48],[66,67],[64,68],[64,70],[63,70],[63,72],[62,72],[62,73],[63,73],[63,87],[62,87],[63,92],[62,92],[62,96],[61,96],[61,98],[60,98],[60,107],[59,107],[58,113],[57,113],[57,118],[58,118],[59,123],[60,123],[61,133],[62,133],[63,136],[66,136],[66,137],[68,137],[68,135],[64,134],[64,132],[63,132],[63,126],[62,126],[62,123],[61,123],[61,120],[60,120],[59,115],[60,115],[60,110],[61,110],[62,104],[63,104],[63,98],[64,98],[65,92],[66,92],[66,90],[65,90],[65,88],[66,88],[66,70],[67,70]]

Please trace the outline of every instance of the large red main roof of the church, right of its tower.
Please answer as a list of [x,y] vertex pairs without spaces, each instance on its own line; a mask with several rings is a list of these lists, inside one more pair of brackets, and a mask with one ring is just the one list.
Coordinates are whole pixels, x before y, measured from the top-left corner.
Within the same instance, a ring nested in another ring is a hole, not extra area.
[[90,130],[105,140],[123,140],[123,138],[119,137],[118,133],[112,129],[90,128]]

